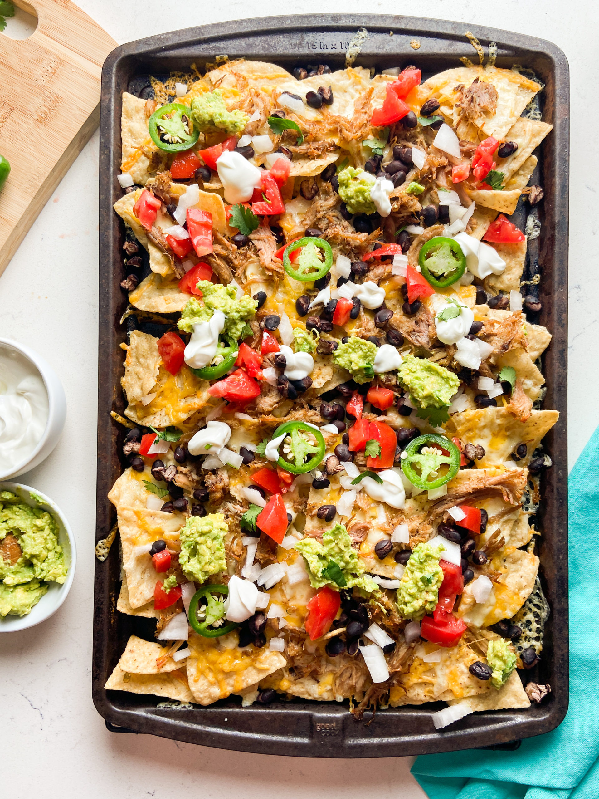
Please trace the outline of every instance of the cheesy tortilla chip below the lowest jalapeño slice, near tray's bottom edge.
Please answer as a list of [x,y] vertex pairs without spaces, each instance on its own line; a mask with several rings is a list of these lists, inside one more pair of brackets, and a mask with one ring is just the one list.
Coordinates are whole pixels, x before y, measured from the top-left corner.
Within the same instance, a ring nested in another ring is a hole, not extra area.
[[[188,641],[192,654],[187,658],[187,676],[193,701],[200,705],[212,705],[218,699],[224,699],[233,692],[239,693],[248,686],[267,677],[287,664],[280,652],[265,649],[224,650],[220,657],[208,639],[201,640],[200,635],[192,634]],[[208,648],[210,659],[204,657]],[[216,654],[216,657],[212,655]],[[248,662],[243,670],[238,670],[240,662]],[[232,667],[235,667],[235,670]]]

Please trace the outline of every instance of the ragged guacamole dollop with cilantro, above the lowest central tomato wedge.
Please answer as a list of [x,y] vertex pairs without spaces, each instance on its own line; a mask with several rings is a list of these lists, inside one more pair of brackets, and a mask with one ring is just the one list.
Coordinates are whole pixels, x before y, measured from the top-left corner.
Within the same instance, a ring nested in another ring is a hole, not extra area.
[[364,566],[343,524],[324,531],[323,543],[305,538],[296,543],[296,550],[307,563],[313,588],[331,586],[339,590],[357,586],[369,594],[379,590],[377,583],[364,574]]

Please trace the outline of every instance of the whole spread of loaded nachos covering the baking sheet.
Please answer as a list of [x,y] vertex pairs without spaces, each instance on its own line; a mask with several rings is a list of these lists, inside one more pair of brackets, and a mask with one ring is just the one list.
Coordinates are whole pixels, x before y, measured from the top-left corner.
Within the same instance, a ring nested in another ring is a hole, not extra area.
[[557,411],[509,217],[542,198],[541,85],[224,60],[152,86],[123,95],[109,499],[117,610],[156,640],[106,688],[526,708]]

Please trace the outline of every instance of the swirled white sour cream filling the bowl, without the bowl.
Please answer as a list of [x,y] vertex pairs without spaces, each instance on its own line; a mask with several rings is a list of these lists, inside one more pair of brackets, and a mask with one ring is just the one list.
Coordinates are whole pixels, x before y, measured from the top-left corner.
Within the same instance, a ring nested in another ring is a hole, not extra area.
[[47,421],[42,376],[21,352],[0,345],[0,473],[10,474],[26,461]]

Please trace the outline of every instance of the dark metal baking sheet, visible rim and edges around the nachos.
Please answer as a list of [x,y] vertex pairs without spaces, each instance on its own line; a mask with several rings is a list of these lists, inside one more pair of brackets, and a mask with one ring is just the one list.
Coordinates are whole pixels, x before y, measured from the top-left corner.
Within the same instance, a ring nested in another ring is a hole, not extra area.
[[[295,755],[299,757],[393,757],[450,749],[502,745],[548,732],[565,716],[568,706],[568,597],[566,498],[566,359],[568,264],[569,74],[565,55],[540,39],[471,26],[401,16],[325,14],[248,19],[180,30],[118,47],[102,72],[100,173],[100,325],[97,438],[97,530],[103,539],[115,521],[106,499],[121,473],[123,430],[110,418],[123,411],[120,388],[125,329],[119,324],[126,297],[119,287],[123,276],[124,231],[113,213],[121,197],[117,182],[121,152],[121,95],[139,92],[147,75],[201,69],[216,55],[272,61],[292,70],[306,63],[343,68],[348,42],[359,28],[368,38],[355,62],[375,67],[416,64],[434,74],[458,66],[458,58],[474,59],[464,36],[470,30],[482,45],[497,42],[497,66],[521,65],[545,83],[541,93],[543,119],[553,133],[541,145],[540,182],[545,200],[539,208],[541,236],[530,246],[527,268],[541,271],[541,324],[553,333],[544,356],[548,391],[544,407],[557,408],[560,420],[545,439],[553,468],[545,473],[538,524],[543,535],[538,547],[541,580],[552,608],[545,626],[541,665],[527,678],[549,682],[552,693],[529,710],[472,714],[435,731],[430,714],[442,703],[407,706],[377,714],[371,725],[355,721],[347,702],[275,702],[242,709],[240,698],[209,707],[157,707],[160,699],[118,691],[104,684],[118,662],[130,634],[151,640],[153,621],[117,613],[119,555],[114,546],[106,562],[96,562],[93,621],[93,702],[109,729],[153,733],[180,741],[223,749]],[[391,35],[391,32],[393,35]],[[419,42],[415,50],[411,42]],[[142,96],[145,96],[142,94]],[[523,213],[523,212],[521,212]],[[535,320],[537,321],[537,320]]]

